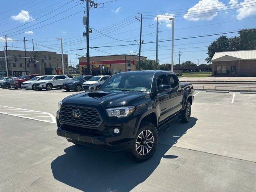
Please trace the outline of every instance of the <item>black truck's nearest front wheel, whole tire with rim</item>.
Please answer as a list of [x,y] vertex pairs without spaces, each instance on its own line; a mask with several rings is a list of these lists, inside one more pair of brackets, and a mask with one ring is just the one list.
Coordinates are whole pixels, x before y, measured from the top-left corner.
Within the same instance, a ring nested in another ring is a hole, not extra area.
[[[146,135],[145,135],[146,134]],[[137,162],[148,160],[156,151],[158,144],[158,131],[150,122],[142,122],[136,134],[130,156]]]

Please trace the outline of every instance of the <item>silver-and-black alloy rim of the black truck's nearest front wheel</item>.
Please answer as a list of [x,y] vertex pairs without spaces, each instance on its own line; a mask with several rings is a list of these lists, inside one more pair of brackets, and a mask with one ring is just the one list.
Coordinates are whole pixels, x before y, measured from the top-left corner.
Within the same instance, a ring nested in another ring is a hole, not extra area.
[[136,151],[140,155],[146,155],[154,145],[154,135],[150,130],[143,130],[136,139]]

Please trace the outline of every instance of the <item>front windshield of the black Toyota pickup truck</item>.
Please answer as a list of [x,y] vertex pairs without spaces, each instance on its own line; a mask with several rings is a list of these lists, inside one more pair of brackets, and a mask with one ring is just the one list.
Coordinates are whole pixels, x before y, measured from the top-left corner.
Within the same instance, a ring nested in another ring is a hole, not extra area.
[[100,90],[131,90],[149,92],[153,74],[116,74],[100,87]]

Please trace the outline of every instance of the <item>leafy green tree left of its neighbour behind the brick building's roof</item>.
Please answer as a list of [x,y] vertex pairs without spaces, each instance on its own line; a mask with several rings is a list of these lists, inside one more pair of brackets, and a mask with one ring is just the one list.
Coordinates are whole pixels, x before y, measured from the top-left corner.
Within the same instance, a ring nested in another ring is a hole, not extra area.
[[205,59],[207,63],[210,63],[212,60],[212,57],[216,52],[222,52],[222,51],[230,51],[230,40],[227,38],[227,36],[220,36],[218,39],[216,39],[214,42],[212,42],[208,46],[208,57]]

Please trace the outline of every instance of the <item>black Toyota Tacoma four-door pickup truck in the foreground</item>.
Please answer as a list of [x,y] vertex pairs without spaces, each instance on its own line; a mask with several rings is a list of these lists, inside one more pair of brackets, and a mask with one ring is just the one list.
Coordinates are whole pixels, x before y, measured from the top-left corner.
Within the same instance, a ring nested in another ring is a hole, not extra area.
[[141,162],[154,154],[158,129],[190,120],[193,94],[192,84],[180,84],[173,72],[114,74],[98,90],[58,103],[57,134],[77,145],[128,150]]

